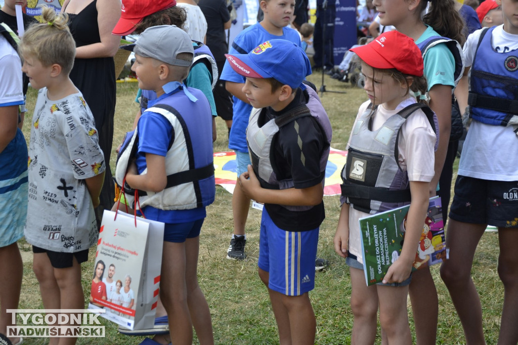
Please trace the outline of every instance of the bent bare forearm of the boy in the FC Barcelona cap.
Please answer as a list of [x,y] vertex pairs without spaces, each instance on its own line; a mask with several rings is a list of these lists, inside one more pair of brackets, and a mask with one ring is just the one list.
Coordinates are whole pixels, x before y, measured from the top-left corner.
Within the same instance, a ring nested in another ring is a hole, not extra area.
[[262,188],[251,165],[248,165],[248,172],[243,172],[243,174],[239,176],[239,184],[243,192],[249,198],[264,204],[314,206],[319,205],[324,196],[322,183],[303,189],[289,188],[276,190]]

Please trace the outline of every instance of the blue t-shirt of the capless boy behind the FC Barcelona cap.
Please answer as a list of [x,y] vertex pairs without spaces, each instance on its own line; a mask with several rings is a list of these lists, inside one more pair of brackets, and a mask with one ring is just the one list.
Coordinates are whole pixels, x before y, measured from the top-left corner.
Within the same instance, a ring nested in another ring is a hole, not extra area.
[[[282,28],[282,36],[270,34],[261,23],[256,23],[247,27],[234,39],[229,54],[247,54],[252,49],[270,39],[286,39],[300,46],[300,36],[298,32],[289,27]],[[290,68],[291,66],[286,66]],[[220,79],[228,80],[236,83],[244,83],[246,78],[237,74],[232,67],[225,61],[225,66],[221,73]],[[232,119],[232,128],[228,138],[228,148],[239,151],[248,152],[246,129],[252,106],[237,97],[234,98],[234,117]]]

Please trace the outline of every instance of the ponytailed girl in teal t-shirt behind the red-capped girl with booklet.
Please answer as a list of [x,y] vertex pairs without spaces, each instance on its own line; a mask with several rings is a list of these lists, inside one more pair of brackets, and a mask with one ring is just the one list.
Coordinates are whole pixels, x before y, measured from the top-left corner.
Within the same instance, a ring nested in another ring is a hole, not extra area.
[[[446,224],[453,161],[459,139],[459,136],[451,134],[462,136],[460,121],[455,122],[457,126],[452,126],[452,92],[462,76],[462,52],[457,42],[464,44],[464,21],[455,9],[455,0],[374,0],[373,4],[379,12],[380,24],[394,25],[397,31],[412,38],[423,52],[426,50],[423,54],[424,75],[428,82],[430,108],[437,114],[439,122],[439,147],[435,153],[435,176],[430,183],[430,196],[437,194],[441,197],[444,205],[442,218]],[[442,39],[435,42],[439,44],[428,45],[429,39],[436,38]],[[438,298],[429,268],[414,274],[409,294],[417,343],[435,345]],[[423,294],[428,298],[422,298]]]

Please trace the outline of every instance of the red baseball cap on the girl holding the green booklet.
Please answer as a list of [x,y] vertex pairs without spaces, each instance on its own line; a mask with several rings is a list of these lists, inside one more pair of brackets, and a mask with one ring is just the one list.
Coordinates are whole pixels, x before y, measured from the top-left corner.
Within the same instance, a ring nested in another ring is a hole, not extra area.
[[398,31],[389,31],[369,44],[350,49],[367,65],[374,68],[395,68],[401,73],[421,77],[423,56],[410,37]]

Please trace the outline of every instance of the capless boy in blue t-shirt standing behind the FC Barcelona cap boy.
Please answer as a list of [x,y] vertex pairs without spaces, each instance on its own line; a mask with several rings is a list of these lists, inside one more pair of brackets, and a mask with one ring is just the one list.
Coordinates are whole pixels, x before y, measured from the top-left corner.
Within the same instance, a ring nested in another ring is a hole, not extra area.
[[[269,39],[286,39],[300,46],[298,32],[286,27],[292,21],[295,0],[262,0],[260,6],[264,12],[264,19],[239,33],[229,49],[229,54],[247,54],[258,44]],[[293,66],[286,66],[286,68],[291,70]],[[234,117],[228,137],[228,148],[236,152],[237,176],[239,177],[247,171],[247,166],[250,164],[245,132],[252,106],[241,91],[244,77],[237,74],[228,65],[228,62],[225,62],[220,79],[226,80],[225,87],[234,96]],[[246,257],[244,225],[249,208],[250,199],[243,194],[239,183],[236,183],[232,195],[234,234],[227,251],[228,259],[243,260]]]

